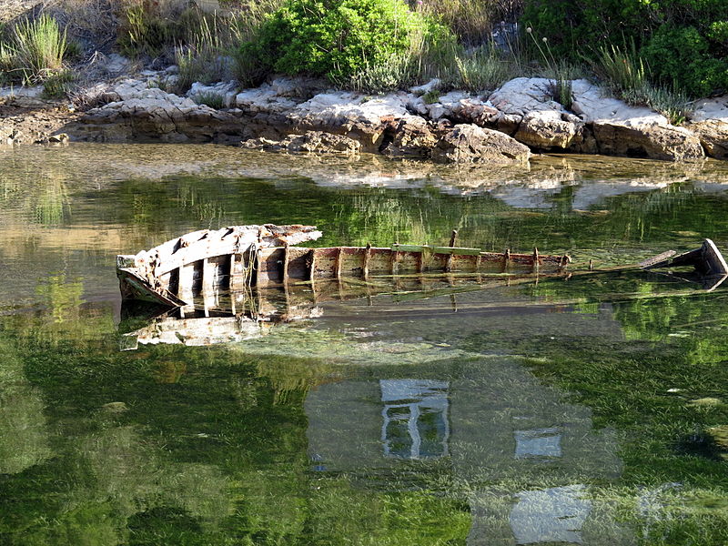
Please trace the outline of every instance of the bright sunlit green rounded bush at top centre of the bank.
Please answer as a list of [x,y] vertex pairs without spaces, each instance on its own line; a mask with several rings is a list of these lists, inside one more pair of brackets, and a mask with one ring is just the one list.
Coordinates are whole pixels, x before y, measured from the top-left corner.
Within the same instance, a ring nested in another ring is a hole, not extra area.
[[264,71],[346,83],[397,56],[438,51],[452,42],[449,30],[401,0],[288,0],[242,46],[241,56]]

